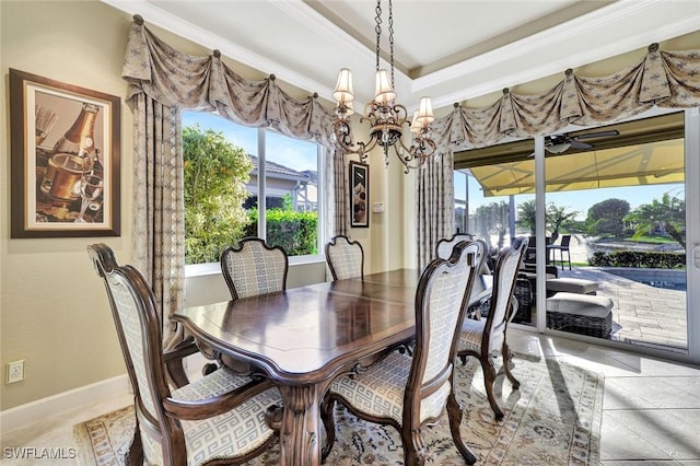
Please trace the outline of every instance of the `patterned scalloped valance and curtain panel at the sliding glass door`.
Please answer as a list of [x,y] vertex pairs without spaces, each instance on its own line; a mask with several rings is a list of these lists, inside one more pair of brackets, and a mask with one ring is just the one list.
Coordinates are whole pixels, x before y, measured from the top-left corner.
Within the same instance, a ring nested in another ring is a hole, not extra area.
[[[442,154],[503,142],[506,137],[533,138],[568,125],[591,126],[622,120],[650,109],[700,106],[700,50],[662,51],[649,46],[640,62],[608,77],[579,77],[567,70],[556,86],[536,95],[503,90],[501,98],[482,108],[455,104],[453,112],[431,124],[431,136]],[[420,196],[444,196],[440,215],[435,206],[418,202],[419,264],[433,254],[439,235],[454,233],[454,191],[434,168],[418,173]],[[433,220],[431,220],[433,219]],[[430,224],[443,221],[444,225]],[[432,251],[430,248],[433,248]]]

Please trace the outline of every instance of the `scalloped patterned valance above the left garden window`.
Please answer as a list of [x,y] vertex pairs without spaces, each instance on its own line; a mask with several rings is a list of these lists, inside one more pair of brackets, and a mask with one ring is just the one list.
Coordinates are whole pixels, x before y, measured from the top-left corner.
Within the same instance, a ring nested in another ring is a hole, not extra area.
[[316,94],[291,97],[275,75],[252,81],[236,74],[221,54],[192,56],[175,50],[135,16],[129,31],[121,77],[129,83],[128,98],[144,93],[168,107],[218,112],[241,125],[272,127],[280,132],[331,147],[335,115]]

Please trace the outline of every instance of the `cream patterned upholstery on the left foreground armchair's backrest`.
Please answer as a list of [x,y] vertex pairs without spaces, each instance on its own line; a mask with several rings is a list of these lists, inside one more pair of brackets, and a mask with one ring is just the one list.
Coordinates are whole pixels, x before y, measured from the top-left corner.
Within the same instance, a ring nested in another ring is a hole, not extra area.
[[112,292],[114,303],[119,314],[119,321],[124,336],[127,339],[127,347],[133,372],[137,376],[138,391],[144,408],[151,416],[156,416],[155,405],[159,403],[154,398],[154,394],[149,391],[149,381],[147,375],[148,362],[145,360],[145,340],[143,338],[143,324],[139,317],[139,307],[136,296],[131,293],[131,287],[126,278],[120,275],[106,276],[106,282]]

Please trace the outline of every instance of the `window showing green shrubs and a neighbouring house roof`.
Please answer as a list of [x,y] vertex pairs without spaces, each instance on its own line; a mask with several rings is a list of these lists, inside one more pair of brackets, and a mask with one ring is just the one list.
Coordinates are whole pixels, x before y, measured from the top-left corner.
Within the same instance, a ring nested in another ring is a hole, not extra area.
[[[200,155],[220,180],[223,177],[231,184],[226,185],[229,201],[222,200],[220,193],[210,193],[207,206],[201,207],[196,206],[200,199],[195,195],[186,196],[187,264],[217,261],[224,247],[245,236],[262,237],[271,245],[282,246],[290,263],[319,254],[324,220],[319,144],[289,138],[273,129],[236,125],[208,113],[183,113],[183,128],[184,137],[196,130],[198,138],[219,140],[220,145],[199,149],[207,152]],[[228,165],[221,165],[220,152],[230,151],[237,152],[231,155],[238,156],[237,162],[232,165],[231,159],[226,159]],[[186,141],[185,152],[185,183],[198,183],[187,175],[188,170],[192,172],[188,158],[198,155],[187,153]],[[235,167],[242,166],[245,170],[238,173]],[[209,182],[206,188],[210,185],[217,183]],[[186,191],[191,188],[186,186]],[[232,208],[232,203],[238,207]],[[207,254],[201,254],[202,249]]]

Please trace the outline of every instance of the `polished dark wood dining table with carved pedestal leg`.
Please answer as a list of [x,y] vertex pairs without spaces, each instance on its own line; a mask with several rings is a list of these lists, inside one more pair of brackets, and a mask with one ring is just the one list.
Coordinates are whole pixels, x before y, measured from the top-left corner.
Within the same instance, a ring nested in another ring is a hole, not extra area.
[[320,401],[330,382],[413,340],[419,272],[398,269],[186,307],[175,321],[280,389],[280,464],[320,464]]

